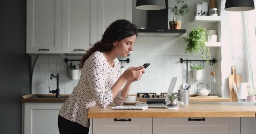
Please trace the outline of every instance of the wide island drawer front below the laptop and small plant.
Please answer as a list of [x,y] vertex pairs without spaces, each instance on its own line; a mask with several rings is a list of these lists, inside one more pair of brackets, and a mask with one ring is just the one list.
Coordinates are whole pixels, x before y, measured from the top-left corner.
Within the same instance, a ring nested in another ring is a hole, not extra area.
[[153,126],[153,134],[240,134],[240,118],[153,118]]

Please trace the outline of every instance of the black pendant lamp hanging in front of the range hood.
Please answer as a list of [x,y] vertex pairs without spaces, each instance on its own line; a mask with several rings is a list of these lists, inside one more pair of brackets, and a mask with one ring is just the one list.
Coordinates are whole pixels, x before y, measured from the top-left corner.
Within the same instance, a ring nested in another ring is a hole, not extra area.
[[136,8],[141,10],[165,9],[165,0],[137,0]]

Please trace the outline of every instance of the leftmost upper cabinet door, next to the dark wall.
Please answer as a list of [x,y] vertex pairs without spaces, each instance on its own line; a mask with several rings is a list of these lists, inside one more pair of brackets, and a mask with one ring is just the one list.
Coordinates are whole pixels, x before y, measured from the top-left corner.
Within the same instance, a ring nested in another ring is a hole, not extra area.
[[27,0],[27,53],[61,53],[61,0]]

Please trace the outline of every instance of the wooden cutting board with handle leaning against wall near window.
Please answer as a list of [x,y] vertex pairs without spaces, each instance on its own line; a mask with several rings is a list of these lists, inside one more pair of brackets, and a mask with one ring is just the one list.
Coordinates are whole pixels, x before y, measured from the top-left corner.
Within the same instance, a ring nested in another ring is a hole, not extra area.
[[240,82],[242,80],[242,76],[241,75],[237,75],[237,67],[236,66],[232,66],[232,75],[229,75],[229,96],[230,96],[230,101],[237,101],[237,95],[235,93],[234,87],[233,87],[233,83],[235,82],[237,85],[237,90],[239,90],[239,85]]

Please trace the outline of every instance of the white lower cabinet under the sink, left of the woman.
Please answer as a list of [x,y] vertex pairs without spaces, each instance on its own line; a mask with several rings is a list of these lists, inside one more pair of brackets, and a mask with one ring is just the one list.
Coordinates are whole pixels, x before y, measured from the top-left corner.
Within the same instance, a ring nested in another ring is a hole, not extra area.
[[24,134],[59,134],[58,115],[63,103],[24,103]]

